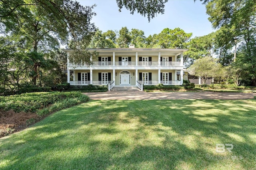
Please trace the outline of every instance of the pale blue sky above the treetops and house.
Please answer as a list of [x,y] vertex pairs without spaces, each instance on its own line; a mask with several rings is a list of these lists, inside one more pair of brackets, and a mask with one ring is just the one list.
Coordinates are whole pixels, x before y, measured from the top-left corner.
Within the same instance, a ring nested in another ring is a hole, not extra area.
[[205,6],[197,0],[169,0],[165,4],[164,14],[158,14],[148,22],[148,18],[140,14],[130,14],[126,8],[118,11],[116,0],[77,0],[83,6],[96,4],[92,18],[103,32],[107,30],[120,30],[127,27],[144,31],[145,36],[160,33],[164,28],[174,29],[180,27],[186,33],[193,33],[192,37],[207,35],[213,31]]

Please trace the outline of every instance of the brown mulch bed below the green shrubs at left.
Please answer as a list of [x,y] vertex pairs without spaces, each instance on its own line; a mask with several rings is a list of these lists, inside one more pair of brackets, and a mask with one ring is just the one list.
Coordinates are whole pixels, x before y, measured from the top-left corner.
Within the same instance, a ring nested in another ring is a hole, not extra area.
[[25,129],[40,119],[36,113],[0,110],[0,137]]

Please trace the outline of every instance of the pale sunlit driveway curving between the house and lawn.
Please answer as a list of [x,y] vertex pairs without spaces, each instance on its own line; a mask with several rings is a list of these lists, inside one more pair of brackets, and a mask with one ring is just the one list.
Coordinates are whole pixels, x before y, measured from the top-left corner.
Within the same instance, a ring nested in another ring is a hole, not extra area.
[[84,93],[92,100],[177,100],[177,99],[219,99],[219,100],[239,100],[252,99],[254,93],[234,93],[234,92],[99,92]]

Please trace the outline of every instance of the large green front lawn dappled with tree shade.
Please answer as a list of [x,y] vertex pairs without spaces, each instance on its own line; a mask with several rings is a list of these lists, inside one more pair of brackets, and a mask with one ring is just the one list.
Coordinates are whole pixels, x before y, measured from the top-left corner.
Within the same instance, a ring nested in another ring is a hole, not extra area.
[[94,100],[0,139],[1,170],[255,168],[256,100]]

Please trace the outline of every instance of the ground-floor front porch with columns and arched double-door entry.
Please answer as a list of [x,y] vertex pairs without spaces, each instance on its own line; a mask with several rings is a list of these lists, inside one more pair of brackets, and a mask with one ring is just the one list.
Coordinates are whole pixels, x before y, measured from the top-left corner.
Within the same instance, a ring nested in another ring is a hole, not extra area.
[[68,70],[70,85],[182,85],[187,79],[183,70]]

